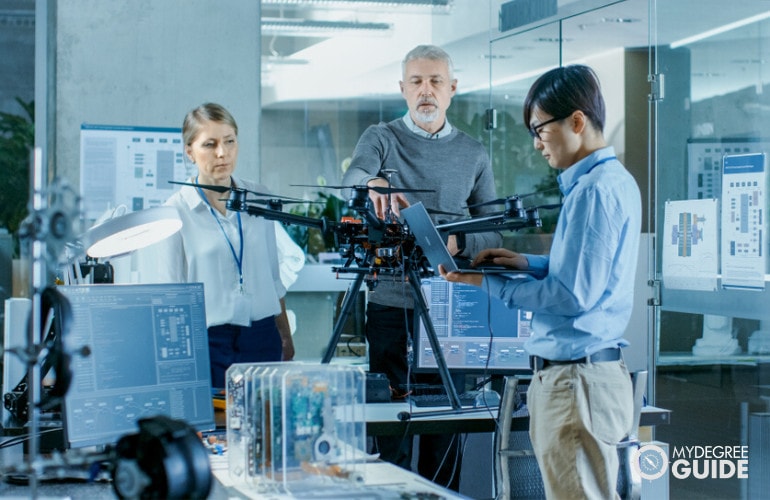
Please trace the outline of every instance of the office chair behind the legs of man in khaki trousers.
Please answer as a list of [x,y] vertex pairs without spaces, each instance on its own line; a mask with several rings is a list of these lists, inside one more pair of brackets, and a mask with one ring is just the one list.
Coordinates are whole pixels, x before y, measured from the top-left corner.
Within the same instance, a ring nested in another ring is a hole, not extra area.
[[[498,425],[495,431],[495,487],[496,500],[512,498],[545,498],[543,481],[537,465],[532,443],[527,431],[511,431],[511,421],[514,415],[518,397],[518,377],[506,376],[503,380],[503,395],[500,399]],[[642,478],[633,467],[636,450],[640,447],[639,420],[644,406],[644,393],[647,389],[647,371],[631,374],[634,397],[633,428],[620,443],[618,443],[617,492],[620,498],[638,500],[642,493]],[[511,480],[512,472],[515,479]]]

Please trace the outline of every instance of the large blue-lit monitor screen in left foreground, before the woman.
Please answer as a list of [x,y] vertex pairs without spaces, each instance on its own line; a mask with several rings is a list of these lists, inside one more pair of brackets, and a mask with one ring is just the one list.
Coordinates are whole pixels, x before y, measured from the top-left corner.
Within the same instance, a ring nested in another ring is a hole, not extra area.
[[62,408],[69,447],[113,444],[159,414],[214,428],[202,283],[58,289],[72,306],[65,349],[90,350],[71,360]]

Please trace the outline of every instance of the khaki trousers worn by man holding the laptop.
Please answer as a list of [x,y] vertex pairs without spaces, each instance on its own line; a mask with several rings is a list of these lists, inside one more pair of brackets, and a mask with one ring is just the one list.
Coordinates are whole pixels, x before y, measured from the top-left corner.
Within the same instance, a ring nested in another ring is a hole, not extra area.
[[549,500],[618,498],[616,445],[632,427],[623,361],[551,365],[532,376],[529,434]]

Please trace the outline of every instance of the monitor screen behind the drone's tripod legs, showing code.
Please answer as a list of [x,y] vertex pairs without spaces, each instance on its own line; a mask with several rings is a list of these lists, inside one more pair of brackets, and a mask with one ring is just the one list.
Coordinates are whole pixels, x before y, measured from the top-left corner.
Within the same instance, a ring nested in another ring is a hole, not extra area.
[[[450,370],[530,371],[529,356],[523,346],[530,335],[532,313],[508,309],[500,299],[489,297],[483,288],[443,278],[423,280],[422,291]],[[435,371],[436,358],[427,329],[419,316],[416,318],[419,335],[414,346],[415,370]]]

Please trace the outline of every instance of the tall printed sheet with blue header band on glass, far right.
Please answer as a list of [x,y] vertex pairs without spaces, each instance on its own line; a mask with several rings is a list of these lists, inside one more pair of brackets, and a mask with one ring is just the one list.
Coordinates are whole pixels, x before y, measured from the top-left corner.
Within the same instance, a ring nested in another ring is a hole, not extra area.
[[765,288],[766,196],[764,153],[723,158],[722,288]]

